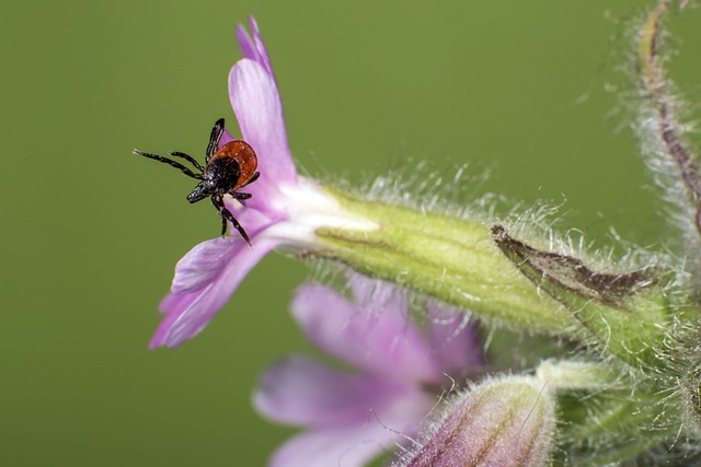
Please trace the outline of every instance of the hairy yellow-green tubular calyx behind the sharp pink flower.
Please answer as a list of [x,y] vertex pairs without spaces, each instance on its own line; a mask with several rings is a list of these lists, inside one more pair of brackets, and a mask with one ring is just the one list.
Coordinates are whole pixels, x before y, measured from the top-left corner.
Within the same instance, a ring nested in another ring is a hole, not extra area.
[[317,235],[331,246],[321,255],[503,324],[549,332],[574,324],[514,268],[483,223],[330,191],[380,227],[319,229]]

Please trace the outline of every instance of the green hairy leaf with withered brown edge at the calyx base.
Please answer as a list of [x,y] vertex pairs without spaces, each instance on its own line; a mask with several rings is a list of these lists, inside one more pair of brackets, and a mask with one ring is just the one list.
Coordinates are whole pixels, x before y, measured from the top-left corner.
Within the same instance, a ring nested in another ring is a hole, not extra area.
[[675,304],[663,271],[597,272],[577,258],[513,238],[502,225],[493,226],[492,234],[514,266],[563,304],[607,352],[635,366],[666,365],[657,347],[673,335]]

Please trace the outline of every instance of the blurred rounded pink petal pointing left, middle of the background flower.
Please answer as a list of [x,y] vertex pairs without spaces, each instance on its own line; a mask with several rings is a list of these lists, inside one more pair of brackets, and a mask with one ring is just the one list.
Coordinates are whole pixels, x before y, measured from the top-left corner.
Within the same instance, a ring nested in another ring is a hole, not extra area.
[[303,357],[290,357],[261,376],[253,397],[256,409],[272,420],[302,425],[364,424],[372,413],[383,416],[402,398],[425,396],[390,378],[356,376]]

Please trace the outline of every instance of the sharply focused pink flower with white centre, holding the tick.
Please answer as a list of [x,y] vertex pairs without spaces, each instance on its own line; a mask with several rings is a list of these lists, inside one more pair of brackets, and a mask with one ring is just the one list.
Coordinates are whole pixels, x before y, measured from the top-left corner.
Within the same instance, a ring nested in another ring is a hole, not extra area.
[[[171,293],[161,303],[165,314],[149,347],[175,347],[196,336],[229,300],[261,258],[279,246],[312,248],[320,226],[374,229],[368,221],[343,210],[313,180],[297,174],[287,144],[283,104],[271,59],[257,24],[250,19],[251,37],[243,26],[237,38],[243,52],[229,74],[229,96],[243,140],[255,150],[260,178],[249,186],[253,197],[227,207],[251,237],[214,238],[195,246],[175,267]],[[233,137],[226,131],[220,145]]]

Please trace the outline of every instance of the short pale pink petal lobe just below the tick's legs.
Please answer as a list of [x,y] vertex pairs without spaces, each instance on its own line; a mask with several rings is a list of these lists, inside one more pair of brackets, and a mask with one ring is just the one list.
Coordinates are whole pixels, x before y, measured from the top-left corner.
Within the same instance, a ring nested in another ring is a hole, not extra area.
[[221,273],[234,255],[248,247],[234,237],[200,243],[177,261],[171,292],[180,295],[203,289]]

